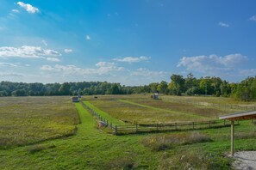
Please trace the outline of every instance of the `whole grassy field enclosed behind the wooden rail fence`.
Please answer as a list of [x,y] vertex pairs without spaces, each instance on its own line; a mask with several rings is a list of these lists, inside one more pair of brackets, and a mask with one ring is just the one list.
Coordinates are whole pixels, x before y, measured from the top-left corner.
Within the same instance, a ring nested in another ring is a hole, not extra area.
[[[173,96],[162,96],[162,100],[151,100],[149,94],[97,97],[97,99],[93,99],[91,96],[87,96],[84,100],[114,118],[132,124],[206,121],[218,119],[223,114],[244,112],[239,107],[231,106],[239,103],[229,98],[220,98],[222,100],[220,105],[211,106],[202,105],[202,103],[216,104],[214,97],[184,97],[184,100],[181,97]],[[228,105],[224,106],[225,100]],[[253,105],[242,102],[243,106],[246,104],[247,106]]]

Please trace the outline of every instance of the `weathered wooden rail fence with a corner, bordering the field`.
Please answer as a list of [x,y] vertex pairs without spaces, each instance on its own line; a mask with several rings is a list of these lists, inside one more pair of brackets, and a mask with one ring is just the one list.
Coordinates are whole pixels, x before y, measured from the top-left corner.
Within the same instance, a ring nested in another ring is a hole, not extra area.
[[[103,118],[100,114],[95,112],[91,107],[81,101],[82,106],[86,108],[99,121],[103,122],[109,130],[115,135],[125,135],[133,133],[148,133],[148,132],[162,132],[162,131],[190,131],[202,130],[210,128],[220,128],[230,125],[228,120],[210,120],[201,122],[186,122],[186,123],[172,123],[172,124],[131,124],[131,125],[116,125],[109,122],[108,119]],[[239,124],[239,122],[235,122]]]

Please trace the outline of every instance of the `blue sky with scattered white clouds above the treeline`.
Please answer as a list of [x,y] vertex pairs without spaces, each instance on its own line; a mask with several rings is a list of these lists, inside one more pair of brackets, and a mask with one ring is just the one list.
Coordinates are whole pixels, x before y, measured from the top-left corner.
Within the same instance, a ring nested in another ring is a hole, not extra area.
[[0,81],[256,76],[254,0],[0,0]]

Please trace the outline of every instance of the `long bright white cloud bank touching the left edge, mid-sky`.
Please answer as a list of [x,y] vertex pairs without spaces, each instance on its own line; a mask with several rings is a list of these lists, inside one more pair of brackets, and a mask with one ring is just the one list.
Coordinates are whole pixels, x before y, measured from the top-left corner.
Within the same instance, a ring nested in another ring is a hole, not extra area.
[[40,46],[0,47],[0,58],[45,58],[58,56],[61,56],[59,52],[43,49]]

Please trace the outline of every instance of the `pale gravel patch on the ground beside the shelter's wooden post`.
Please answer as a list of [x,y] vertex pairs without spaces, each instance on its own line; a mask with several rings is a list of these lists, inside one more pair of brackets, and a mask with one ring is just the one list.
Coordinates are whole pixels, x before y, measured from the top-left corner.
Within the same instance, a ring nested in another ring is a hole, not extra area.
[[234,154],[234,169],[256,170],[256,151],[242,151]]

